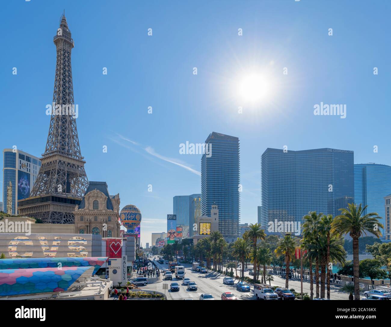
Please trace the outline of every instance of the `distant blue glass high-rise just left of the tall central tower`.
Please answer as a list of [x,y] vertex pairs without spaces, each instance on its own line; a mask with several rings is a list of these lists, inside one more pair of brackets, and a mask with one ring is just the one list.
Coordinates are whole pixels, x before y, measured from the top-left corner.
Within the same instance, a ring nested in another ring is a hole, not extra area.
[[197,217],[195,216],[195,211],[197,207],[200,208],[200,202],[201,194],[177,195],[172,199],[172,212],[176,215],[177,226],[183,227],[183,238],[192,236],[190,235],[190,229],[192,230],[190,226],[193,226],[194,217]]

